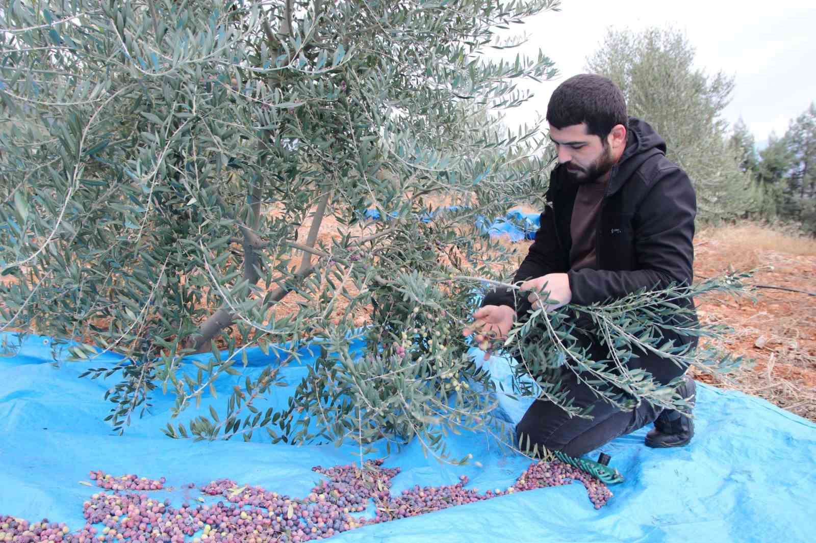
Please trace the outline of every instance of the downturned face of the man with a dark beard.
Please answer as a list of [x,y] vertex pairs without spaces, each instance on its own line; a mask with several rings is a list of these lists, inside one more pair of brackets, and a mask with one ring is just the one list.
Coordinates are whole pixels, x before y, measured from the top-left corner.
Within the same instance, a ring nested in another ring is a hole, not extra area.
[[576,183],[592,183],[614,166],[610,145],[596,135],[587,134],[586,123],[558,129],[550,126],[550,139],[563,164]]

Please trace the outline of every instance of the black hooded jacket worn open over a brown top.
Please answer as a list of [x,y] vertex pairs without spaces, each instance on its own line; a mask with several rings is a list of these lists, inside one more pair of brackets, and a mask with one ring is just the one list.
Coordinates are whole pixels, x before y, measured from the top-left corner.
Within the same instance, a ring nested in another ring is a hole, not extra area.
[[[611,171],[596,223],[595,269],[570,270],[570,221],[578,184],[570,182],[562,166],[553,170],[547,192],[548,210],[541,214],[541,227],[514,281],[565,272],[570,279],[571,303],[578,305],[621,298],[639,289],[660,289],[671,283],[690,285],[694,188],[685,172],[665,153],[663,138],[646,122],[630,117],[627,147]],[[481,305],[507,305],[518,316],[524,316],[530,302],[526,295],[517,302],[514,298],[512,292],[493,291]],[[696,338],[673,333],[664,337],[673,339],[675,345],[696,342]],[[645,369],[663,383],[685,371],[645,353],[631,360],[629,366]]]

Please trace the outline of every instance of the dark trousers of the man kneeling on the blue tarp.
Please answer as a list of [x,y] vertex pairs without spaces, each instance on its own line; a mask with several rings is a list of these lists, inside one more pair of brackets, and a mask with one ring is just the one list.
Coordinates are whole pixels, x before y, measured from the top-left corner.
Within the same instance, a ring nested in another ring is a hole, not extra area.
[[662,410],[644,401],[634,411],[619,411],[578,382],[569,370],[565,370],[562,378],[567,382],[576,407],[592,405],[592,419],[570,417],[552,402],[535,400],[516,426],[516,444],[521,443],[522,450],[527,447],[529,438],[529,450],[538,444],[539,450],[543,447],[570,457],[580,457],[620,435],[654,422]]

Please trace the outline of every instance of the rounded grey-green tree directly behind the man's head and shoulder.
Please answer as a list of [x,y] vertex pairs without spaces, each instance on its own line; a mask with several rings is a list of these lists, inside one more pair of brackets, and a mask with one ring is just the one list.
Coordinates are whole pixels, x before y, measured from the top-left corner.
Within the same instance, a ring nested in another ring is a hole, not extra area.
[[694,47],[672,29],[610,29],[587,67],[614,81],[629,114],[663,136],[667,157],[694,183],[701,218],[743,213],[749,204],[749,178],[729,150],[728,123],[721,118],[734,90],[733,78],[695,69]]

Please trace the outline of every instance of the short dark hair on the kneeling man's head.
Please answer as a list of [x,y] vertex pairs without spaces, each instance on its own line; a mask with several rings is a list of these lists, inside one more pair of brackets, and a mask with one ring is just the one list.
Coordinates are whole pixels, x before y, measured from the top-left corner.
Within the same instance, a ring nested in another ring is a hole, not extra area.
[[558,129],[587,123],[587,134],[604,139],[615,125],[627,126],[626,99],[610,79],[581,73],[550,96],[547,121]]

